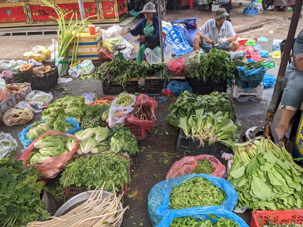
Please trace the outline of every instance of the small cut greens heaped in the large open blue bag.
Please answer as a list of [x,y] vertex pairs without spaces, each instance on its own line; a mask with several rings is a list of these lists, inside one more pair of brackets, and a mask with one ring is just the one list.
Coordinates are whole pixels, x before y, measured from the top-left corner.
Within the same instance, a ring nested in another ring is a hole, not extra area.
[[171,190],[168,209],[221,206],[225,199],[225,192],[213,183],[203,177],[193,177]]

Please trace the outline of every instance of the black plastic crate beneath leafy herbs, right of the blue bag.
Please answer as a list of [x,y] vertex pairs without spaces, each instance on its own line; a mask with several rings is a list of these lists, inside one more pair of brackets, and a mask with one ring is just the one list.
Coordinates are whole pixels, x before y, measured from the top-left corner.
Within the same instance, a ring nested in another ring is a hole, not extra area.
[[221,80],[203,82],[203,80],[197,81],[196,78],[190,78],[189,85],[194,93],[203,92],[209,94],[213,91],[226,92],[227,90],[227,82]]

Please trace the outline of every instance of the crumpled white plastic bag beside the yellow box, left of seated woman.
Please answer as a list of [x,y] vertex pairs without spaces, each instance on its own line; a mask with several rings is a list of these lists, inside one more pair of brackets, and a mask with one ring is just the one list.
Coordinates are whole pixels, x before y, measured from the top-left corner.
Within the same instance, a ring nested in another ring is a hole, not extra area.
[[126,49],[121,52],[125,54],[127,58],[131,57],[131,52],[134,46],[121,36],[122,28],[119,25],[114,24],[112,27],[108,28],[107,30],[102,29],[102,32],[103,32],[102,33],[103,40],[115,38],[115,37],[121,38],[123,44],[126,45]]

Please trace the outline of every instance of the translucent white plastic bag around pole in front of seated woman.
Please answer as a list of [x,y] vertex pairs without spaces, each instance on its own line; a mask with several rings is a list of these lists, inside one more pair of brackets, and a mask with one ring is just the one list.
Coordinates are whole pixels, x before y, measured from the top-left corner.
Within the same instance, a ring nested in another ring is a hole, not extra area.
[[[167,44],[166,47],[163,49],[165,62],[168,62],[168,60],[171,59],[171,54],[173,52],[174,48],[170,44]],[[146,48],[144,54],[149,64],[161,63],[161,49],[151,50],[150,48]]]

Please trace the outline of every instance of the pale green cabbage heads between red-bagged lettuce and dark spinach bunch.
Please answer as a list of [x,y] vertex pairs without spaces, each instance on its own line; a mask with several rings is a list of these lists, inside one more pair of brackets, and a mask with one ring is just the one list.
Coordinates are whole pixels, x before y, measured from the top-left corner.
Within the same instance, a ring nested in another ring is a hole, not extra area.
[[[99,106],[99,105],[94,105]],[[87,128],[75,133],[75,137],[80,141],[77,154],[93,153],[98,154],[108,150],[107,143],[110,130],[108,127]]]

